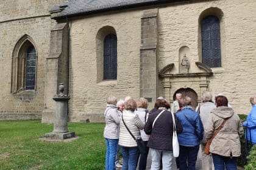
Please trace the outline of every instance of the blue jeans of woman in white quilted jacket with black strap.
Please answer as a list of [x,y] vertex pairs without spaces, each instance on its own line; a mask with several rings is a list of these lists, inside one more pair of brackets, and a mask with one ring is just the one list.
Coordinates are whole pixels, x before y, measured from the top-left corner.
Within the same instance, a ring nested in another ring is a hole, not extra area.
[[135,170],[137,164],[138,147],[124,147],[121,146],[123,155],[122,170]]

